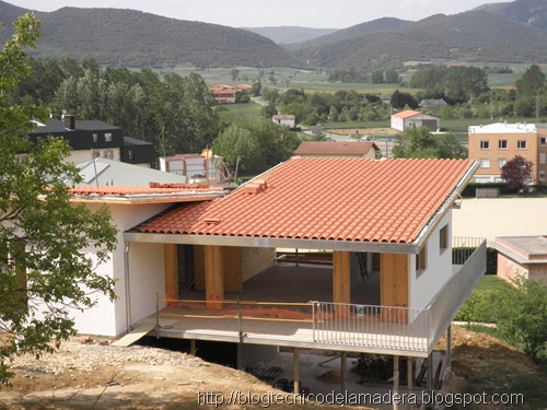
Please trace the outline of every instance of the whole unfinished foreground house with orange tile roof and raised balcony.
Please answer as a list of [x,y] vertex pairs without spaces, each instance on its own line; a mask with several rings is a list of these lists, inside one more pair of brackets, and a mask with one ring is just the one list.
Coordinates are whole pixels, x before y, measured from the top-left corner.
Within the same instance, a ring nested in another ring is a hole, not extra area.
[[409,358],[410,366],[422,358],[431,386],[432,350],[447,333],[450,352],[452,319],[486,270],[486,241],[452,237],[477,166],[293,157],[231,192],[74,187],[74,202],[107,204],[119,230],[98,267],[118,298],[75,313],[77,328],[128,333],[118,344],[154,331],[189,340],[193,352],[196,341],[234,343],[238,366],[256,347],[292,349],[295,370],[300,349]]

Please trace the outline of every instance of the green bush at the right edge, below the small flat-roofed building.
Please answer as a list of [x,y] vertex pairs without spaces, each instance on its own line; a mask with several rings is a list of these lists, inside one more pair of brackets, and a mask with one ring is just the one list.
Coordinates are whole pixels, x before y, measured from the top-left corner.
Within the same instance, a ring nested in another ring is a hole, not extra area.
[[498,291],[498,330],[536,363],[547,363],[547,282],[521,277],[515,284],[519,292]]

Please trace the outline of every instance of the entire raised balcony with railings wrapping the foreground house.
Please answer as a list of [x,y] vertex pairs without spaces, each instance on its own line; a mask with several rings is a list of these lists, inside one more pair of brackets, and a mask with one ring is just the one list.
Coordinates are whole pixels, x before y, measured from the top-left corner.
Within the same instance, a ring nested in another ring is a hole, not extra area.
[[[486,270],[486,241],[453,239],[453,274],[426,308],[158,297],[158,337],[428,356]],[[165,306],[162,308],[162,306]],[[209,303],[210,307],[210,303]]]

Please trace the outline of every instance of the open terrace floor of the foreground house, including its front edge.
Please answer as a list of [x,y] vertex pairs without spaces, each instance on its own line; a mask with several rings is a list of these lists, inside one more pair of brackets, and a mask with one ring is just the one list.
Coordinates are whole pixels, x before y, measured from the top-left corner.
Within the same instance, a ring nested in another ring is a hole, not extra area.
[[[351,305],[329,302],[333,300],[331,267],[293,263],[274,266],[247,281],[243,293],[226,294],[222,309],[206,308],[203,298],[203,292],[185,291],[183,300],[166,301],[166,307],[142,321],[155,321],[156,336],[166,338],[412,356],[428,354],[423,319],[418,317],[408,324],[408,309],[379,308],[377,271],[356,281]],[[322,302],[311,303],[317,300]]]

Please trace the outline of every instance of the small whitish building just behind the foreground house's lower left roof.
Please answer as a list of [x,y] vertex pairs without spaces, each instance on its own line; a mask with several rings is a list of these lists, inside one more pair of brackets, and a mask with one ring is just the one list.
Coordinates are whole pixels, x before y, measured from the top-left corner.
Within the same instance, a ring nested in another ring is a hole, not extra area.
[[160,157],[160,169],[185,177],[187,184],[220,185],[229,179],[222,156],[182,154]]

